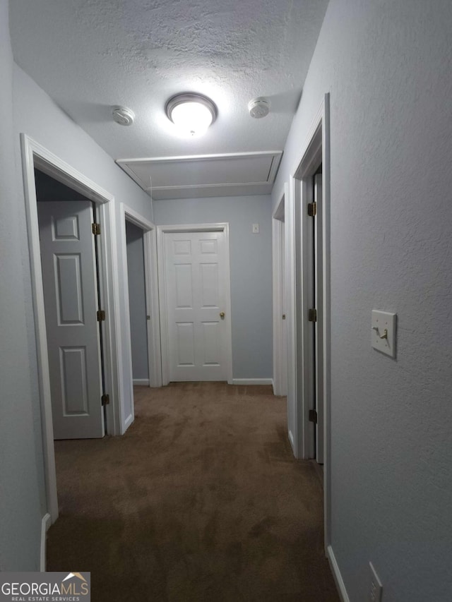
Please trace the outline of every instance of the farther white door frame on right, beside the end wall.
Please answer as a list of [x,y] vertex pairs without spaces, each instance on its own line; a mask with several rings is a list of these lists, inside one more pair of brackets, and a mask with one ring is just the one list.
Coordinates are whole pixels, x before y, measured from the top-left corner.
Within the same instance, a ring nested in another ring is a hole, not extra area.
[[[289,186],[284,184],[283,194],[273,212],[272,249],[273,249],[273,395],[287,395],[287,337],[284,337],[282,320],[285,312],[283,287],[286,287],[285,258],[285,200],[289,195]],[[283,281],[284,278],[284,281]],[[286,294],[287,299],[287,294]],[[286,312],[287,320],[287,312]]]

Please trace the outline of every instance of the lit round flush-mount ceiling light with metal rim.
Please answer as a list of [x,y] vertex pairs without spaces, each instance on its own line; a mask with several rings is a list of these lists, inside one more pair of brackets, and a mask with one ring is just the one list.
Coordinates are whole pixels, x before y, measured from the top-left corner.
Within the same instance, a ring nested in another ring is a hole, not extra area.
[[166,106],[167,117],[177,128],[191,136],[201,136],[217,119],[218,110],[210,98],[201,94],[177,94]]

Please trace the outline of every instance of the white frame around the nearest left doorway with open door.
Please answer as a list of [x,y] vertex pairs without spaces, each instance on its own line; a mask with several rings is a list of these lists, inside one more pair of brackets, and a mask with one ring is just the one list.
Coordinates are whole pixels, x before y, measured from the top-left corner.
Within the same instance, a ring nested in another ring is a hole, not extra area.
[[114,196],[24,133],[20,134],[20,145],[30,255],[32,305],[35,318],[39,403],[42,420],[42,447],[47,498],[47,514],[44,519],[46,528],[48,528],[58,518],[58,498],[44,289],[41,272],[40,232],[37,220],[35,167],[66,186],[70,186],[86,198],[93,200],[98,208],[102,230],[98,245],[100,259],[99,282],[101,302],[106,311],[106,319],[102,323],[102,340],[104,344],[105,384],[110,396],[110,403],[106,406],[106,428],[109,435],[119,435],[121,432],[121,407],[119,403],[121,371],[119,369],[118,352],[121,348],[119,339],[121,330],[117,312],[119,287],[117,284],[117,258],[114,253],[116,249]]

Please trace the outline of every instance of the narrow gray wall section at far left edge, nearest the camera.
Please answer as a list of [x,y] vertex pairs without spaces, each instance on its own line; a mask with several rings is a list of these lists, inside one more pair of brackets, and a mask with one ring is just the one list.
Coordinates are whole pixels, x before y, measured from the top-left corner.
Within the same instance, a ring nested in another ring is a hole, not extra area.
[[33,411],[13,143],[8,2],[0,0],[0,570],[39,570],[42,447]]

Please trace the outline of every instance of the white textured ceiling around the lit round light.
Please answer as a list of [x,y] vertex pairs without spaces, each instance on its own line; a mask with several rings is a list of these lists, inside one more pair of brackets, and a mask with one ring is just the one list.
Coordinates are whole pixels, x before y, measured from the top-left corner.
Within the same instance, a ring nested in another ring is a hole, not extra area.
[[[114,159],[282,150],[328,0],[12,0],[16,62]],[[177,92],[218,106],[202,138],[165,116]],[[251,119],[247,104],[270,99]],[[112,105],[136,114],[115,124]]]

